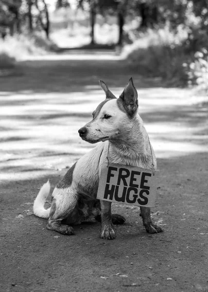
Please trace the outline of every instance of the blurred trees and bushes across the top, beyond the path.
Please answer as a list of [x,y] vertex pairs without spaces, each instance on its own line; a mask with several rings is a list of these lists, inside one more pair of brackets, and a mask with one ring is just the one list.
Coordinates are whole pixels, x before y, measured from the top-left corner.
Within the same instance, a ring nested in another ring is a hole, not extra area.
[[28,55],[103,49],[135,72],[207,91],[207,47],[206,0],[0,0],[1,74]]

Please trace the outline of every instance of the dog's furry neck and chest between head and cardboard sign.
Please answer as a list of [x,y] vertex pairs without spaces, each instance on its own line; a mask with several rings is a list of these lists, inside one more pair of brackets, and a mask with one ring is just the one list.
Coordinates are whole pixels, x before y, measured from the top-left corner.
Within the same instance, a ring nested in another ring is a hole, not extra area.
[[109,140],[109,161],[111,163],[152,168],[153,157],[149,137],[139,116],[124,135]]

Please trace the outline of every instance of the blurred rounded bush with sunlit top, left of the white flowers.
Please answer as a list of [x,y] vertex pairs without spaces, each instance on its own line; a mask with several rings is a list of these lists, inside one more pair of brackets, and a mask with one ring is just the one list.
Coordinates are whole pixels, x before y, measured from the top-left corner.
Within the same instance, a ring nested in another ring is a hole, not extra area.
[[172,31],[166,25],[160,29],[148,29],[140,38],[126,46],[124,53],[130,65],[139,73],[161,77],[170,85],[181,86],[188,82],[183,63],[187,60],[184,41],[188,34],[178,26]]

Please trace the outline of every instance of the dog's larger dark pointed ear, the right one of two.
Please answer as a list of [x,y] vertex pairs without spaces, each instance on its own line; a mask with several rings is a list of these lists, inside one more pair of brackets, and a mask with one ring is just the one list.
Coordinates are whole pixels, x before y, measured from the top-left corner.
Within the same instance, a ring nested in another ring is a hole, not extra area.
[[132,77],[129,79],[129,82],[121,93],[119,99],[121,99],[122,105],[128,115],[133,116],[138,109],[138,94]]

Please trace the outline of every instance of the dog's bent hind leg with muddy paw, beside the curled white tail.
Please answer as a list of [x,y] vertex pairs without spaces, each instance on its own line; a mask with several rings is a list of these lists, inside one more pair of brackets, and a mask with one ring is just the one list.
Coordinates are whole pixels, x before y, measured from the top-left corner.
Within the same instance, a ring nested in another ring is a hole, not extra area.
[[[69,218],[77,204],[78,196],[71,188],[55,188],[52,198],[50,217],[46,228],[61,234],[73,235],[71,226],[62,224],[62,220]],[[73,221],[73,219],[71,219]]]

